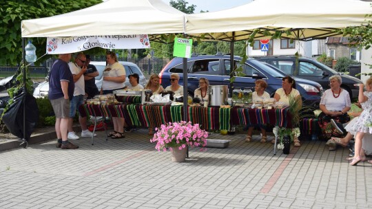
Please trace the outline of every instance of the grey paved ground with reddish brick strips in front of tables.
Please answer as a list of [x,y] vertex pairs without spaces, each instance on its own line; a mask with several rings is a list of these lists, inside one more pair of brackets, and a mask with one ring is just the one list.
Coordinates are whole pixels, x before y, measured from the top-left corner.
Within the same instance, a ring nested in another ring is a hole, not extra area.
[[[372,208],[372,165],[347,148],[303,141],[289,155],[244,134],[211,134],[228,148],[193,148],[183,163],[158,152],[147,130],[104,140],[0,152],[0,208]],[[271,140],[272,137],[269,137]]]

